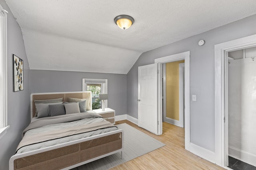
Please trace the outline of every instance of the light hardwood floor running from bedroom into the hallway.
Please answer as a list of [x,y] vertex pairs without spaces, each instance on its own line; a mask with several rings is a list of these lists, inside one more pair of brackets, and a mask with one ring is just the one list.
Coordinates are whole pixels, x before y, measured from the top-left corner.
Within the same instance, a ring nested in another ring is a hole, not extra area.
[[120,164],[111,170],[224,170],[184,149],[184,128],[164,122],[163,134],[158,136],[128,120],[116,121],[116,124],[121,123],[127,123],[166,146]]

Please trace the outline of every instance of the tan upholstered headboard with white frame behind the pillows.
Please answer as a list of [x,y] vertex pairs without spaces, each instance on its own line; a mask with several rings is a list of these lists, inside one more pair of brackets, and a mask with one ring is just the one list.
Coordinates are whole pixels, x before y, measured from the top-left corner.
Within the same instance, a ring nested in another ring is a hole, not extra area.
[[34,100],[47,100],[47,99],[58,99],[63,98],[63,102],[68,102],[68,98],[90,98],[90,109],[92,109],[92,92],[56,92],[56,93],[32,93],[30,95],[30,114],[31,119],[36,114],[36,106]]

